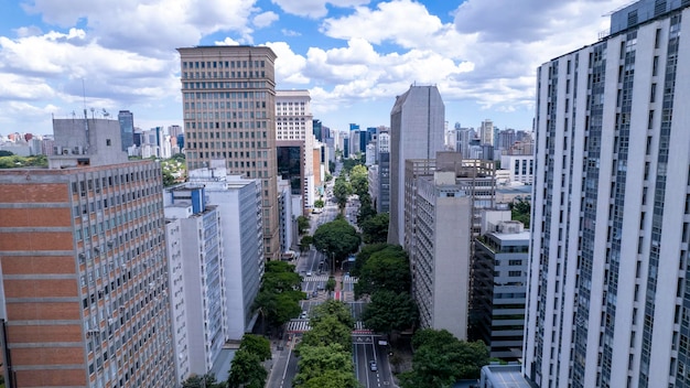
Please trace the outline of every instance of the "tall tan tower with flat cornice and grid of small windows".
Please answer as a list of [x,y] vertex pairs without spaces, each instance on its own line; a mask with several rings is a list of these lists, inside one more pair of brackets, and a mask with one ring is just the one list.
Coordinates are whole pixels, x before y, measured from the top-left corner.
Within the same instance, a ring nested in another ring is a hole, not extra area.
[[229,173],[261,180],[267,259],[278,259],[276,54],[259,46],[177,48],[187,170],[225,159]]

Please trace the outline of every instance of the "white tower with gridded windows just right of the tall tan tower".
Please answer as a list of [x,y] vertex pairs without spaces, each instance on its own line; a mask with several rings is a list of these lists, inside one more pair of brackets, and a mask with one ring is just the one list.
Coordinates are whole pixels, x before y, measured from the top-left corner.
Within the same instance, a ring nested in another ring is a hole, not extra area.
[[303,196],[305,208],[314,206],[314,201],[316,201],[313,152],[314,116],[311,99],[309,90],[276,90],[276,146],[300,148],[302,181],[300,194]]

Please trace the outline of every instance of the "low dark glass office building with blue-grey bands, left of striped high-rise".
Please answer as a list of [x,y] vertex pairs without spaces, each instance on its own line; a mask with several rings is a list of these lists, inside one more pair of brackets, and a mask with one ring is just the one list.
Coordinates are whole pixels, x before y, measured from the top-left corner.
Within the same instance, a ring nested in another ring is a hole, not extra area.
[[529,230],[516,220],[499,222],[493,229],[474,242],[468,336],[482,340],[492,358],[518,360],[522,357]]

